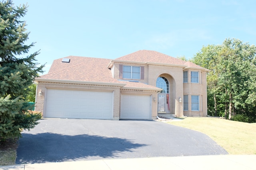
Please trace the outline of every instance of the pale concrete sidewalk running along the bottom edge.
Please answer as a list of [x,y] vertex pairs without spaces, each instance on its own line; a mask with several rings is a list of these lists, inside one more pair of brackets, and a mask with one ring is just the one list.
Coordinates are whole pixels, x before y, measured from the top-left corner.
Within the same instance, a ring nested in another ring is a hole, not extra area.
[[0,170],[256,170],[256,155],[102,159],[0,166]]

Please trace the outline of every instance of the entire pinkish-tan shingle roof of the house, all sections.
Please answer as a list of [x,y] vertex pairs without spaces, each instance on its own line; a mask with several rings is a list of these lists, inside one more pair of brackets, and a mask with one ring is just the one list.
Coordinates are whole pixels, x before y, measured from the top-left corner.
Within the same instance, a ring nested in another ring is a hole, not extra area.
[[[68,80],[80,82],[98,82],[98,83],[118,83],[126,84],[124,88],[144,88],[159,90],[154,86],[139,82],[119,81],[113,78],[112,72],[108,69],[111,59],[100,59],[91,57],[68,56],[70,63],[62,63],[61,59],[53,61],[48,74],[44,74],[36,80]],[[162,63],[171,65],[182,65],[190,68],[202,68],[194,63],[182,61],[174,57],[159,53],[157,51],[140,50],[129,55],[125,55],[114,61],[132,61],[145,63]],[[207,70],[207,69],[206,69]]]

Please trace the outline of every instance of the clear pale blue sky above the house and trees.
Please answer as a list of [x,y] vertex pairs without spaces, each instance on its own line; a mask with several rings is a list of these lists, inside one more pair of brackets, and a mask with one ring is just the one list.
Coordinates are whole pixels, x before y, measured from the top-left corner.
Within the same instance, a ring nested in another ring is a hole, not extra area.
[[30,52],[46,74],[69,55],[116,59],[138,50],[192,58],[237,38],[256,45],[255,0],[13,0],[28,3]]

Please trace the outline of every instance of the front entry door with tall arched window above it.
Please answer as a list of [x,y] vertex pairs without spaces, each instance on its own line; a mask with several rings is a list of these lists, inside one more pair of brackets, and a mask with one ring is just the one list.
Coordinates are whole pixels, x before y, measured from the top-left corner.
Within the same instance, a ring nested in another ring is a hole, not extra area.
[[156,86],[163,90],[158,94],[158,113],[170,113],[169,81],[165,77],[158,77]]

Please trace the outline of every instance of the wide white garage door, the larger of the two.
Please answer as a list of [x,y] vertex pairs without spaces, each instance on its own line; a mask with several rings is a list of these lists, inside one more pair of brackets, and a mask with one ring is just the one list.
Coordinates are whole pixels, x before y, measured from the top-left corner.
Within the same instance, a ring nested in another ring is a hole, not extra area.
[[112,119],[113,92],[47,89],[44,117]]

